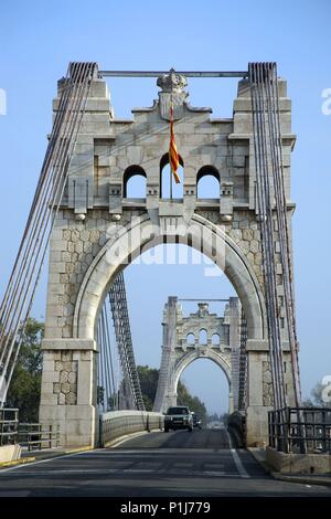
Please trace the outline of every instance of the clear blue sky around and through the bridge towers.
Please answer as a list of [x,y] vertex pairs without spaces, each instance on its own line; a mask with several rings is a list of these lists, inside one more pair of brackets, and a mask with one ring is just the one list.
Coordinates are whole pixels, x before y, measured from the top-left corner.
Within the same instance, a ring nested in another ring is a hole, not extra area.
[[[56,81],[70,61],[97,61],[105,70],[224,71],[246,70],[249,61],[276,61],[288,81],[298,136],[291,169],[293,251],[301,380],[309,395],[331,374],[331,115],[322,97],[331,93],[330,15],[328,0],[2,2],[0,294],[46,149]],[[131,107],[151,106],[158,92],[154,80],[146,78],[111,80],[109,87],[117,117],[129,117]],[[188,89],[193,106],[211,106],[214,117],[231,117],[235,81],[191,80]],[[224,276],[212,284],[196,266],[132,265],[126,279],[137,361],[153,366],[161,352],[161,310],[169,295],[203,298],[222,292],[227,297],[232,290]],[[39,318],[44,315],[45,283],[44,276],[33,309]],[[183,378],[211,411],[224,410],[226,383],[212,362],[194,362]]]

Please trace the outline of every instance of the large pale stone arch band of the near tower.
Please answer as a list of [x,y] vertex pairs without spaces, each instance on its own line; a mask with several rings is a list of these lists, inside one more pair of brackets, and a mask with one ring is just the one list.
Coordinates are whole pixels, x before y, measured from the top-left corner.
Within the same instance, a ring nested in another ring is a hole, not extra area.
[[[193,226],[173,231],[167,222],[158,227],[146,215],[122,226],[94,258],[82,282],[74,310],[73,338],[94,339],[97,318],[118,272],[156,245],[183,243],[210,257],[233,284],[247,319],[247,338],[265,338],[266,313],[261,288],[244,253],[220,227],[194,214]],[[213,246],[211,246],[211,241]],[[216,253],[215,253],[216,251]]]

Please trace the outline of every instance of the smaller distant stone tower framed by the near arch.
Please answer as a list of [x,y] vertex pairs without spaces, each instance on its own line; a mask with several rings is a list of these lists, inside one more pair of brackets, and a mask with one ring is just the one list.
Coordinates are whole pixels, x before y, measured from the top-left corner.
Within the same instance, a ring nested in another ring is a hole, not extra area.
[[[225,373],[232,413],[238,409],[241,303],[231,297],[224,316],[210,314],[207,303],[183,316],[177,297],[169,297],[163,314],[163,345],[153,411],[177,405],[177,386],[183,370],[196,359],[211,359]],[[207,383],[207,381],[206,381]]]

